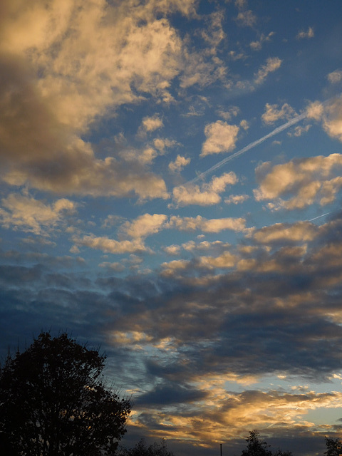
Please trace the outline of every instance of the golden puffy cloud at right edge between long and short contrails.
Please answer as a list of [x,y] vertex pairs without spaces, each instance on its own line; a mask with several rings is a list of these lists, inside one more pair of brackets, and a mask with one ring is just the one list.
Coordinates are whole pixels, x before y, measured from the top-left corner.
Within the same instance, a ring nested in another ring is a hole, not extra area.
[[[254,197],[257,201],[276,199],[274,208],[301,209],[316,201],[321,206],[329,204],[342,187],[341,166],[341,154],[295,159],[274,167],[264,163],[256,170],[259,188]],[[285,196],[288,199],[282,199]]]

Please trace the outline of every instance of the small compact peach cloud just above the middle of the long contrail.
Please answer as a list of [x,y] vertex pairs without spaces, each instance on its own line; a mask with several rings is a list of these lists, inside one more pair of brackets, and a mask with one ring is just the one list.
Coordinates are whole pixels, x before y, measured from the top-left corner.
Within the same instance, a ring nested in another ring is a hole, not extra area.
[[214,123],[209,123],[204,128],[204,134],[207,140],[202,145],[201,157],[209,154],[217,154],[219,152],[229,152],[235,147],[237,142],[237,134],[239,127],[237,125],[229,125],[227,122],[217,120]]

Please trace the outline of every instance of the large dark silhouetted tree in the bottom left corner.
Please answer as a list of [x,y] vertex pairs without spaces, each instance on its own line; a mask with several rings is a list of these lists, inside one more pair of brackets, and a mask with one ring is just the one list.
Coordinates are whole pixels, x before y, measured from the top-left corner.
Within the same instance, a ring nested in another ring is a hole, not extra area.
[[0,451],[20,456],[113,455],[130,401],[103,385],[105,357],[62,333],[41,333],[0,371]]

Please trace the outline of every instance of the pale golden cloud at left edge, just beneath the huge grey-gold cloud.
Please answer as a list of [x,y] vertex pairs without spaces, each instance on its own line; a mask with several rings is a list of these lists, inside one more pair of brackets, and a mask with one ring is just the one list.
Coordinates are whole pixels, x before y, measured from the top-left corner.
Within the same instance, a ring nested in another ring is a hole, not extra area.
[[77,204],[69,199],[57,199],[44,204],[28,195],[11,193],[1,199],[0,223],[3,227],[34,234],[49,235],[49,230],[63,225],[68,215],[76,212]]

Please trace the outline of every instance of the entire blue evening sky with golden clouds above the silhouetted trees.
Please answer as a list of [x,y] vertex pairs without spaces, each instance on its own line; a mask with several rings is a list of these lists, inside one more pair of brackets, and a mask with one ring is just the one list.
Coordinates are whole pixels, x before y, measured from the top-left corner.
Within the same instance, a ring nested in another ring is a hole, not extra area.
[[3,0],[0,353],[68,331],[125,445],[342,432],[339,0]]

